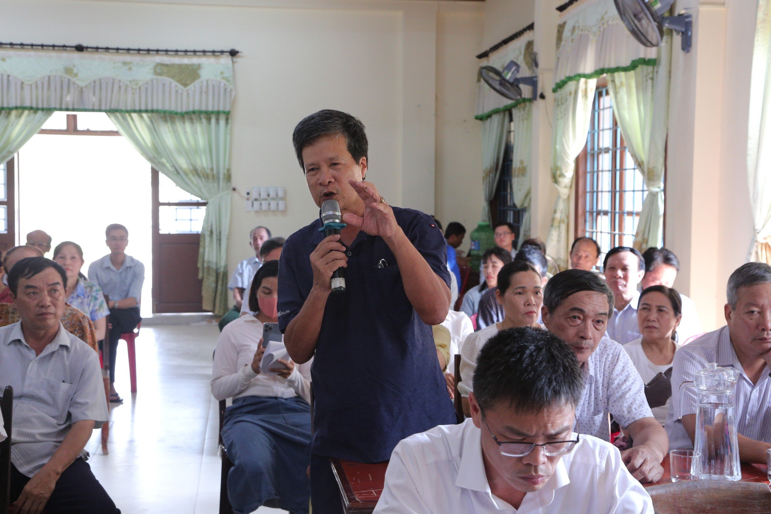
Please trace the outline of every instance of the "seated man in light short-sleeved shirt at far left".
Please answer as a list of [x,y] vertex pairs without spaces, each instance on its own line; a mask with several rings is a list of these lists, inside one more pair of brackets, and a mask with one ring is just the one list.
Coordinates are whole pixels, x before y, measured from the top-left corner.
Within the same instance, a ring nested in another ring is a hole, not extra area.
[[59,321],[66,282],[45,257],[19,260],[8,273],[21,316],[0,328],[0,391],[14,391],[12,512],[120,512],[84,460],[109,415],[98,355]]

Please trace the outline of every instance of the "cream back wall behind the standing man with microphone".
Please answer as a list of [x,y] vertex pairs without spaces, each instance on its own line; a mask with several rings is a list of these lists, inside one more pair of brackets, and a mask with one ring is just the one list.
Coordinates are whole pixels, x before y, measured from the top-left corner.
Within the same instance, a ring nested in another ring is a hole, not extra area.
[[[233,185],[284,186],[287,211],[244,212],[234,193],[233,270],[250,254],[252,227],[288,236],[318,215],[291,146],[295,124],[318,109],[362,119],[370,141],[367,178],[393,205],[434,212],[437,160],[446,180],[471,182],[465,173],[478,173],[479,136],[475,127],[464,133],[473,123],[463,116],[473,114],[473,72],[453,76],[451,68],[470,68],[483,8],[407,0],[0,0],[0,33],[4,41],[241,51]],[[481,201],[471,203],[443,207],[443,217],[470,218],[481,208]]]

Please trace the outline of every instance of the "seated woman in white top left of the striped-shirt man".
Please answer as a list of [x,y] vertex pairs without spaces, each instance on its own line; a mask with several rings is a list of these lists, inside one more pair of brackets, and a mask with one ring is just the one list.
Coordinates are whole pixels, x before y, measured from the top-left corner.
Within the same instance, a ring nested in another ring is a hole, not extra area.
[[[680,294],[669,287],[651,286],[640,293],[637,322],[642,335],[625,344],[624,349],[645,384],[651,384],[660,373],[664,374],[672,368],[672,358],[680,348],[675,342],[675,334],[682,319],[681,308]],[[668,376],[661,378],[665,378],[671,393]],[[653,417],[662,426],[667,420],[669,403],[667,400],[665,405],[651,407]]]

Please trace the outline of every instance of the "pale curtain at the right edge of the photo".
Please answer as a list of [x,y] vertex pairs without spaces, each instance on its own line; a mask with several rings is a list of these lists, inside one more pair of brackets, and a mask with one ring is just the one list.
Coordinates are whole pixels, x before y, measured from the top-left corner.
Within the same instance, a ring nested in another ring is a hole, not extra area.
[[755,226],[749,260],[771,264],[771,0],[758,2],[747,136],[747,185]]

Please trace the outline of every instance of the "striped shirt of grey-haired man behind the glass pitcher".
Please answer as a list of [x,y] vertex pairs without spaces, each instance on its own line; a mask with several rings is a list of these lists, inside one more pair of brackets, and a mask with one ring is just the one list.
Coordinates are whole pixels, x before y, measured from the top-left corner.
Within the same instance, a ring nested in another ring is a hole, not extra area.
[[[683,388],[680,401],[678,388],[684,381],[693,380],[696,371],[716,362],[723,368],[736,368],[741,372],[736,381],[733,398],[736,432],[756,441],[771,442],[771,379],[769,368],[763,369],[758,383],[753,385],[745,374],[731,343],[729,328],[723,327],[704,334],[675,352],[672,361],[672,401],[667,415],[667,435],[670,449],[690,449],[693,442],[678,417],[695,414],[699,401],[694,388]],[[682,410],[681,410],[682,405]]]

